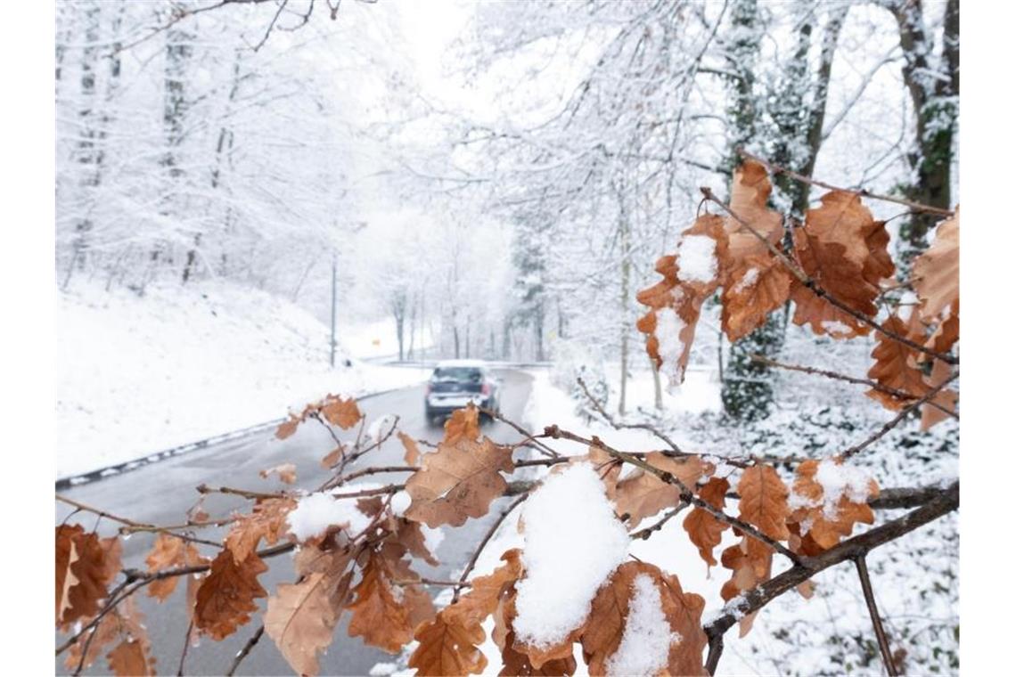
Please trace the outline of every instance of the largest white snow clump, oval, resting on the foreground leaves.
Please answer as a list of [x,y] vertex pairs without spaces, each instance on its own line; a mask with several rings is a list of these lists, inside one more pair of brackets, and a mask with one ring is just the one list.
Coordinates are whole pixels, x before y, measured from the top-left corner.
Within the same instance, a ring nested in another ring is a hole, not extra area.
[[522,512],[525,578],[517,586],[520,640],[549,647],[589,613],[596,589],[628,555],[628,532],[588,463],[547,478]]

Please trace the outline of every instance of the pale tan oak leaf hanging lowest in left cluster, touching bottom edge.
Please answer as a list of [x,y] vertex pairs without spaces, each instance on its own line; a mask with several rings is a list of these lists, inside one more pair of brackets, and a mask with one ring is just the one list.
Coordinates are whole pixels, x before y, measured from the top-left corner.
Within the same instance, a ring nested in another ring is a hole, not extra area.
[[268,598],[264,630],[297,674],[318,674],[317,655],[331,644],[340,612],[331,604],[333,585],[314,572],[297,584],[279,584]]

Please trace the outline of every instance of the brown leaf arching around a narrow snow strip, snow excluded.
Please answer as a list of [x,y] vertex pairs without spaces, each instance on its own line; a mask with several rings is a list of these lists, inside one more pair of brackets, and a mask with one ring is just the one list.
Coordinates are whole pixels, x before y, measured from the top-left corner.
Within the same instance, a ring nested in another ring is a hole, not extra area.
[[708,674],[702,665],[702,651],[707,641],[702,630],[705,600],[699,595],[685,593],[676,576],[664,573],[652,564],[632,561],[621,564],[592,600],[589,619],[582,633],[582,652],[589,665],[589,674],[608,674],[611,658],[617,653],[624,636],[635,594],[635,581],[640,576],[649,577],[659,593],[660,609],[670,623],[672,636],[675,636],[666,665],[660,666],[660,673]]

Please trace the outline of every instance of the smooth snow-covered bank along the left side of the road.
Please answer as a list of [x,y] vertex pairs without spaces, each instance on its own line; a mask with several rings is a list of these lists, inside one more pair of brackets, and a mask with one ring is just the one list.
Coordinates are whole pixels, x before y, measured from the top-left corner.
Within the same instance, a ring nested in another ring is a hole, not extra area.
[[[60,295],[57,321],[58,477],[279,418],[329,392],[427,377],[352,358],[341,330],[332,369],[326,326],[224,282],[149,286],[143,297],[80,283]],[[355,342],[383,329],[357,330]]]

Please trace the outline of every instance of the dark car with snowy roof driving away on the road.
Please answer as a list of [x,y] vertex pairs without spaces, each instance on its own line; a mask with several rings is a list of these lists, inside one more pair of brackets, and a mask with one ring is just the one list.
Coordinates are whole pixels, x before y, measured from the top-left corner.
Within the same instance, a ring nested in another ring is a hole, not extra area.
[[500,413],[501,381],[481,360],[449,359],[438,362],[424,394],[427,420],[438,423],[469,402]]

